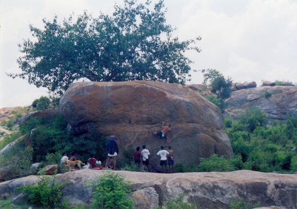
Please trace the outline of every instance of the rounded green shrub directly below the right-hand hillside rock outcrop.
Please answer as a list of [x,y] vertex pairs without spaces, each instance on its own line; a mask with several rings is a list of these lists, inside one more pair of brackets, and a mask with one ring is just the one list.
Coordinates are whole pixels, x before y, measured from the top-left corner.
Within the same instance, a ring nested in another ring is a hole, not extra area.
[[247,109],[240,118],[247,130],[253,132],[257,126],[265,126],[268,122],[266,113],[259,108]]

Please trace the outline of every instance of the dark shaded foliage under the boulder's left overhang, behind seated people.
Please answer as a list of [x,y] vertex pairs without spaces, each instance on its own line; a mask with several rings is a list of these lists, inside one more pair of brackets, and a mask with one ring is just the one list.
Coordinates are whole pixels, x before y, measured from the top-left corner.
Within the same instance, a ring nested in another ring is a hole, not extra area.
[[[73,135],[67,130],[67,122],[62,115],[52,119],[32,118],[20,126],[20,132],[29,134],[27,140],[34,148],[34,162],[57,161],[63,153],[76,153],[83,161],[87,161],[91,156],[100,160],[105,158],[106,139],[97,131],[80,136]],[[56,156],[49,155],[51,153]]]

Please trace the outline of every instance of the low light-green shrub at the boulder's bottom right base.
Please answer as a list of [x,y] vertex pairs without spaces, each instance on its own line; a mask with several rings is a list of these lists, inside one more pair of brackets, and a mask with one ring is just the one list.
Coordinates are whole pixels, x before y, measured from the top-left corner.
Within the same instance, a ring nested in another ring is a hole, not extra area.
[[231,164],[230,159],[214,154],[211,155],[208,159],[201,158],[198,170],[201,172],[235,171],[235,166]]

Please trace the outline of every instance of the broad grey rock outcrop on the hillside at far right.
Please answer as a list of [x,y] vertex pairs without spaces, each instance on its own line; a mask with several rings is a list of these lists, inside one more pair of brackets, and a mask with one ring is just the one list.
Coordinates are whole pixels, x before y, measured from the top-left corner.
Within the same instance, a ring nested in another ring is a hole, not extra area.
[[[271,97],[265,98],[265,92]],[[237,90],[226,101],[226,112],[238,118],[247,108],[258,107],[269,119],[285,120],[287,114],[297,113],[297,86],[262,86]]]

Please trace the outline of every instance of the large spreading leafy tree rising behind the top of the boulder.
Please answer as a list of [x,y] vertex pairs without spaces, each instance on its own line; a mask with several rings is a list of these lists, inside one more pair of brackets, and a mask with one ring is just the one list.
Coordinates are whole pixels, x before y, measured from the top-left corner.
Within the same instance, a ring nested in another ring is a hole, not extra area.
[[[153,9],[151,9],[153,7]],[[124,0],[112,15],[98,17],[84,12],[58,23],[43,19],[44,28],[30,25],[33,40],[19,44],[20,77],[58,95],[73,83],[91,81],[149,80],[184,84],[190,79],[188,50],[200,52],[196,39],[180,41],[166,24],[163,0],[138,4]]]

